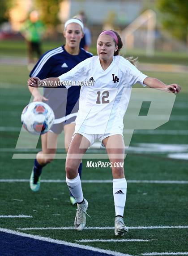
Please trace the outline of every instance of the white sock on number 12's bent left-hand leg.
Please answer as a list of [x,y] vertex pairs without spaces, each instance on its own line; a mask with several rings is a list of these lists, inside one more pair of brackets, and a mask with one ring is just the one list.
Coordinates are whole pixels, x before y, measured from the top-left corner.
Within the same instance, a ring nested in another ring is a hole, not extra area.
[[82,202],[84,200],[84,197],[81,189],[80,175],[78,174],[77,177],[74,178],[73,180],[69,180],[66,176],[66,182],[68,185],[68,189],[70,190],[76,201]]

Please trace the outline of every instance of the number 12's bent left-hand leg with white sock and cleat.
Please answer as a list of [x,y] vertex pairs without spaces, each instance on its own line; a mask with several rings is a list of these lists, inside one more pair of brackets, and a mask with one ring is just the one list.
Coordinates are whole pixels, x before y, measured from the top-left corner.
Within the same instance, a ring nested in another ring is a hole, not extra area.
[[78,167],[80,165],[83,154],[90,146],[90,142],[84,136],[75,134],[68,148],[66,159],[66,181],[70,192],[77,200],[77,214],[74,220],[75,229],[81,231],[85,227],[85,215],[87,214],[88,202],[84,199],[81,179],[78,175]]

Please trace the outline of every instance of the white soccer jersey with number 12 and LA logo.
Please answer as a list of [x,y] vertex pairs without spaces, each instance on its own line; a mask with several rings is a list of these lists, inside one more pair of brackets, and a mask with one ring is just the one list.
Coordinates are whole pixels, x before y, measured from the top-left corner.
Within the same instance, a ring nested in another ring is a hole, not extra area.
[[99,57],[93,56],[59,76],[60,81],[94,80],[93,86],[81,87],[75,133],[122,134],[131,87],[137,82],[143,84],[146,77],[121,56],[114,56],[106,70]]

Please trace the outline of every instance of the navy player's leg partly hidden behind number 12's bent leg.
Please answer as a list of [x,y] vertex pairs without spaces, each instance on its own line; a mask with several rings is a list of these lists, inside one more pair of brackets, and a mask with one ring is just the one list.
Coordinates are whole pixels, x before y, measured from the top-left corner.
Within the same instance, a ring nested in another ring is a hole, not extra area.
[[[70,123],[70,124],[64,126],[64,146],[65,146],[66,152],[68,152],[68,147],[72,141],[74,130],[75,130],[75,123]],[[78,173],[80,175],[80,178],[81,178],[81,171],[82,171],[82,162],[80,163],[80,165],[78,167]],[[77,204],[77,201],[73,197],[71,192],[70,192],[70,203],[72,205]]]

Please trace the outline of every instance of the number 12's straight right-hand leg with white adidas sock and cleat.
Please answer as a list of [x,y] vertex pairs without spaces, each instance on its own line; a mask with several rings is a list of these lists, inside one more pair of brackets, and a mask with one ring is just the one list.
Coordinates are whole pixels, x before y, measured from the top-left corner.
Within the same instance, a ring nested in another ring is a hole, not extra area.
[[123,219],[127,194],[127,182],[124,176],[124,140],[121,135],[112,135],[103,139],[103,144],[112,163],[115,235],[122,236],[128,232]]

